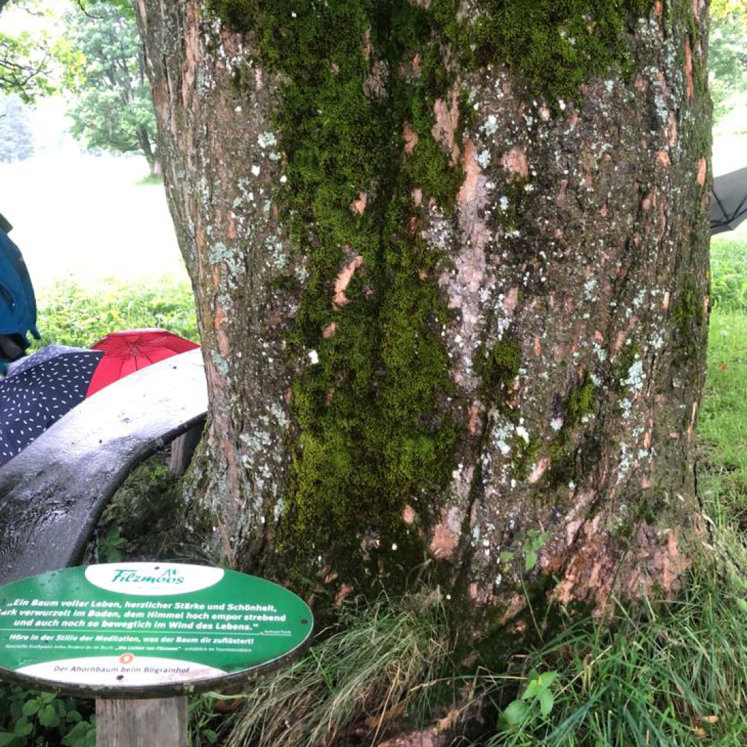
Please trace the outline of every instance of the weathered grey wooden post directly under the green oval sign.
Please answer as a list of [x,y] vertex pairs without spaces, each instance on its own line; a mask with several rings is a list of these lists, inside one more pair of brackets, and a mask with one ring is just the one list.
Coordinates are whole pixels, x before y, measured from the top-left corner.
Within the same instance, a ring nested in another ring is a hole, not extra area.
[[187,698],[96,699],[96,747],[187,747]]

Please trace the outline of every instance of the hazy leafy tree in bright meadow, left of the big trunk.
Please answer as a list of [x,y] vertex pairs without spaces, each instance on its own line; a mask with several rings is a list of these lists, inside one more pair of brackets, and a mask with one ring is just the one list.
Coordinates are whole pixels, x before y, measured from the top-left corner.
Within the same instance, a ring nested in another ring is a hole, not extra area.
[[70,131],[89,148],[140,151],[160,173],[155,115],[131,8],[99,2],[66,15],[66,36],[83,62],[68,110]]

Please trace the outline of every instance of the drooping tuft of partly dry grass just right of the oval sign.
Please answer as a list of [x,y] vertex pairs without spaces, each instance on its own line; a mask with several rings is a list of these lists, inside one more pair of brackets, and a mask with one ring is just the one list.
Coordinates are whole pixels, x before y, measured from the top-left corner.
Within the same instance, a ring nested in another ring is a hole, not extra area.
[[301,660],[242,695],[226,747],[308,747],[353,728],[376,743],[391,723],[417,723],[450,654],[438,598],[351,607]]

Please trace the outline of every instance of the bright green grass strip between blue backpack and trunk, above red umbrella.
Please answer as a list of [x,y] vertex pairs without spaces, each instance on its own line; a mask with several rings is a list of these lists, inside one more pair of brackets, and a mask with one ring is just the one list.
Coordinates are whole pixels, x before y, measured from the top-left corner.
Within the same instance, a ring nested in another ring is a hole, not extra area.
[[74,281],[58,282],[40,294],[37,326],[42,338],[34,347],[52,342],[90,347],[117,329],[163,327],[199,343],[192,289],[168,278],[123,285],[109,282],[96,291]]

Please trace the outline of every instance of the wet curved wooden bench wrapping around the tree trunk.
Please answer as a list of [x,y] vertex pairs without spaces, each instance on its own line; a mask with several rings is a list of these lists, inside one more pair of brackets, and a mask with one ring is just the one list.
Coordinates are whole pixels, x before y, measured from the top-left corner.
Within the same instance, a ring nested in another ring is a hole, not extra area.
[[68,412],[0,468],[0,584],[81,554],[134,467],[205,420],[202,352],[132,373]]

